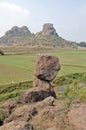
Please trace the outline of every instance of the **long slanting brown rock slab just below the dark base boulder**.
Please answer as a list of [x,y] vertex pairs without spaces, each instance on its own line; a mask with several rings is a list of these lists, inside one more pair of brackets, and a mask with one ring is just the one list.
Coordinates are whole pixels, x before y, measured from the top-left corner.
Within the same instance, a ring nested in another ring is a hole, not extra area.
[[38,114],[40,110],[46,108],[47,106],[53,106],[54,98],[48,97],[45,100],[38,102],[36,104],[27,104],[20,107],[15,108],[12,114],[5,119],[4,123],[9,123],[11,121],[29,121],[32,119],[32,116]]

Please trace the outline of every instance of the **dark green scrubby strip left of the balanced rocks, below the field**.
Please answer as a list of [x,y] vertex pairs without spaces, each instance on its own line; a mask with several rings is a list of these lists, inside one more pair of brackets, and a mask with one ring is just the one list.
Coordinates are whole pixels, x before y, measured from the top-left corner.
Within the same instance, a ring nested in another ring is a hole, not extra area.
[[0,102],[17,97],[22,91],[31,87],[32,81],[0,85]]

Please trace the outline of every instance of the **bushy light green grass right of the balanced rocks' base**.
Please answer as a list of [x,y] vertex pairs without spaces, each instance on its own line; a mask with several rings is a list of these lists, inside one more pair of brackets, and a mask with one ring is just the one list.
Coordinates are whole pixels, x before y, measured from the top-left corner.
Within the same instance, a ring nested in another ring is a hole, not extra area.
[[86,84],[80,85],[77,81],[65,87],[63,92],[59,92],[57,99],[66,99],[71,103],[73,100],[86,101]]

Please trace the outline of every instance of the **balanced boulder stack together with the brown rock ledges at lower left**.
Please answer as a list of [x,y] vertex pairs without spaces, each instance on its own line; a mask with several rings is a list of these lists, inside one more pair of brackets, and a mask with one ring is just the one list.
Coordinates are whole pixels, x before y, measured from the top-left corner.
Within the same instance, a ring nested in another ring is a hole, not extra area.
[[55,56],[48,54],[37,56],[33,88],[22,93],[16,102],[7,102],[2,106],[2,109],[7,109],[5,112],[7,116],[0,130],[34,130],[30,121],[36,115],[45,118],[46,112],[53,116],[57,113],[58,107],[54,107],[53,104],[56,94],[50,82],[59,70],[59,59]]

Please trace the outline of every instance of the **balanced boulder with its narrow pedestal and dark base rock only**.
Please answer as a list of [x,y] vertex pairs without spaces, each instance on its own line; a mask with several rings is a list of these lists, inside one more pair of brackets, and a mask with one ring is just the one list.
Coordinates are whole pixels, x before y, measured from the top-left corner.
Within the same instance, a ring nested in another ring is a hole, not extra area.
[[45,99],[46,97],[56,94],[51,87],[50,82],[55,78],[57,72],[60,70],[59,59],[48,54],[39,54],[37,56],[35,67],[35,78],[33,87],[27,92],[20,95],[19,103],[31,103]]

